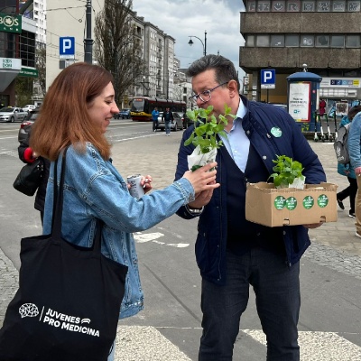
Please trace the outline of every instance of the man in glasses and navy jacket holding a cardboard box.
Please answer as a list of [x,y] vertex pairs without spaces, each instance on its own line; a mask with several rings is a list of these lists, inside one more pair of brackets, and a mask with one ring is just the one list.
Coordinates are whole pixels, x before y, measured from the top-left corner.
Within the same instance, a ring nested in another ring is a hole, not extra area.
[[[267,181],[276,155],[301,162],[308,183],[326,180],[317,154],[300,126],[281,108],[248,101],[239,95],[232,61],[207,55],[190,65],[195,93],[190,101],[200,108],[213,106],[213,115],[231,108],[218,149],[217,180],[221,187],[207,190],[177,214],[199,216],[196,258],[202,277],[202,336],[199,361],[232,360],[240,319],[252,285],[258,316],[267,339],[267,360],[300,360],[298,345],[300,258],[310,245],[309,228],[317,225],[264,227],[245,219],[247,182]],[[176,179],[188,169],[185,146],[193,127],[180,143]],[[242,358],[242,356],[237,356]]]

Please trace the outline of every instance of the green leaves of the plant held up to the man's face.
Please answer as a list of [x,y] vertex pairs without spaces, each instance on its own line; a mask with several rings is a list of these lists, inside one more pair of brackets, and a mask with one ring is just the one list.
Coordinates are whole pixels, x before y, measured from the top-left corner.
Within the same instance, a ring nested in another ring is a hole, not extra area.
[[207,109],[188,110],[187,116],[194,122],[194,131],[190,137],[184,142],[184,145],[192,143],[194,146],[200,148],[200,152],[209,153],[212,149],[218,149],[223,145],[221,140],[217,139],[217,134],[227,137],[224,131],[228,124],[227,116],[236,118],[230,114],[231,108],[225,105],[224,115],[218,116],[210,115],[213,111],[213,106],[208,106]]

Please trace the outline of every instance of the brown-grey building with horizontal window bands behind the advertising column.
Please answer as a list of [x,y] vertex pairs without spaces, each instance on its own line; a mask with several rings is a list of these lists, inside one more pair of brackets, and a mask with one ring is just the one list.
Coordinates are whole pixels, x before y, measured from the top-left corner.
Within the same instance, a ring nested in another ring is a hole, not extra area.
[[[322,77],[319,97],[361,99],[360,0],[245,0],[239,66],[247,97],[287,102],[287,77],[306,69]],[[275,88],[261,88],[260,70],[275,69]]]

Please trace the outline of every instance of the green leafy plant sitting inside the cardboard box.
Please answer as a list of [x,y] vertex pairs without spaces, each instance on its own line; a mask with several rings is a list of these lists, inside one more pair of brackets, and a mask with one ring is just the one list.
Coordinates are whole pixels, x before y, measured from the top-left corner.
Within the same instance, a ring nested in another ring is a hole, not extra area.
[[273,178],[275,187],[288,187],[296,179],[305,179],[302,175],[301,162],[293,161],[292,158],[285,155],[277,155],[277,159],[272,162],[276,165],[273,167],[274,173],[269,176],[268,180]]

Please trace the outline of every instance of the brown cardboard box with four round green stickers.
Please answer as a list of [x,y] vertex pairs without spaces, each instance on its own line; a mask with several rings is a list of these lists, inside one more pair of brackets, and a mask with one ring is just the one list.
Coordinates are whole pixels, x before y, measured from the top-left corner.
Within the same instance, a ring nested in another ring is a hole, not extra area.
[[305,184],[303,190],[276,189],[273,183],[248,183],[245,219],[268,227],[338,220],[336,184]]

